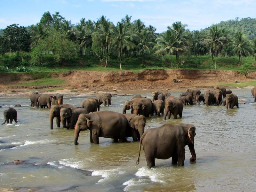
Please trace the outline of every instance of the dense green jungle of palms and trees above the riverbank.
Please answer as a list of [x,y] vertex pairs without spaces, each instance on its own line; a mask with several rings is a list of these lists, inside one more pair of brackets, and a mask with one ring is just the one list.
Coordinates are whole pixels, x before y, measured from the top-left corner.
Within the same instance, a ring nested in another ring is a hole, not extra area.
[[72,24],[44,12],[29,27],[0,30],[0,72],[143,68],[255,69],[256,19],[221,21],[189,31],[174,22],[163,33],[126,15],[116,25],[105,16]]

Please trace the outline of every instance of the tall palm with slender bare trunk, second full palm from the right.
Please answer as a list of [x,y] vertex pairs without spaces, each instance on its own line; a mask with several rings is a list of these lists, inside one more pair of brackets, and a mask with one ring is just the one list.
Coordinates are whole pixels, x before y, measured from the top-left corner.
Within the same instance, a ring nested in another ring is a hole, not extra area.
[[217,69],[216,57],[217,51],[219,50],[219,45],[228,44],[228,39],[226,36],[223,36],[221,29],[218,29],[217,26],[210,27],[210,33],[208,38],[204,39],[204,44],[210,45],[212,51],[215,52],[215,69]]

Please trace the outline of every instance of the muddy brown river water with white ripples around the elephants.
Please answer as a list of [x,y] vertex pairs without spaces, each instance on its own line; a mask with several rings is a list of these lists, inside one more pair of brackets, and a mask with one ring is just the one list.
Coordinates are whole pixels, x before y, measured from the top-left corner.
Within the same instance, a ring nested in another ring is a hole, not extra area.
[[[202,90],[204,92],[205,90]],[[253,191],[256,184],[255,108],[250,89],[232,89],[246,102],[239,108],[193,105],[183,108],[181,119],[147,118],[146,130],[164,123],[196,126],[196,162],[186,146],[184,167],[171,159],[156,159],[149,169],[138,142],[113,143],[100,138],[90,143],[89,131],[81,132],[74,145],[74,130],[49,125],[49,109],[30,107],[28,97],[1,97],[3,111],[16,104],[18,123],[0,125],[0,188],[34,188],[36,191]],[[179,96],[181,92],[173,92]],[[150,93],[142,96],[149,97]],[[101,110],[122,112],[132,96],[116,96]],[[80,106],[84,98],[68,97],[63,103]],[[20,159],[26,164],[12,164]]]

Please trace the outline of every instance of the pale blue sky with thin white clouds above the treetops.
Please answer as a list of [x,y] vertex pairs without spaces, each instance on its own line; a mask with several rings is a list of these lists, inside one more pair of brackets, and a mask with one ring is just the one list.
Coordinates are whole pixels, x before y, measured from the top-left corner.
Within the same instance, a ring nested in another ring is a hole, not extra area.
[[173,22],[200,30],[239,17],[255,18],[256,0],[0,0],[0,29],[16,23],[29,26],[40,22],[44,12],[60,12],[73,24],[82,18],[97,21],[106,16],[115,25],[126,14],[140,19],[161,33]]

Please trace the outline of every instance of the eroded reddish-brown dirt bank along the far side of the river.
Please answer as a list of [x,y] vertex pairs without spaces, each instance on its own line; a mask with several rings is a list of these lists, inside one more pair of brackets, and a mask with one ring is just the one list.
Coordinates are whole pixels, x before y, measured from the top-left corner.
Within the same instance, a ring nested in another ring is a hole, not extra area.
[[[116,93],[151,92],[152,90],[186,90],[189,87],[208,88],[219,83],[234,83],[235,80],[252,81],[256,72],[244,79],[239,72],[223,70],[147,69],[139,73],[132,71],[68,71],[52,73],[52,78],[64,79],[67,84],[50,86],[20,86],[21,82],[33,82],[29,74],[0,77],[0,95],[28,95],[30,91],[47,92],[50,89],[62,94],[95,94],[99,91]],[[173,80],[180,82],[174,82]],[[75,91],[75,92],[74,92]]]

